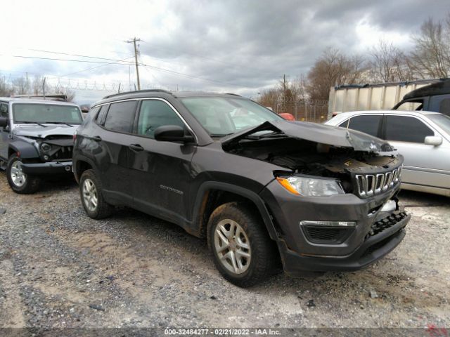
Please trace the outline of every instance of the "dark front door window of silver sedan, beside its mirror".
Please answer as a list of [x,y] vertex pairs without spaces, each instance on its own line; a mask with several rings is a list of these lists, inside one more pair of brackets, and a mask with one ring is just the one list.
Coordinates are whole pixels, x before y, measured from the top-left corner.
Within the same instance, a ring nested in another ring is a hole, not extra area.
[[435,136],[435,133],[414,117],[386,116],[385,135],[386,140],[424,143],[426,136]]

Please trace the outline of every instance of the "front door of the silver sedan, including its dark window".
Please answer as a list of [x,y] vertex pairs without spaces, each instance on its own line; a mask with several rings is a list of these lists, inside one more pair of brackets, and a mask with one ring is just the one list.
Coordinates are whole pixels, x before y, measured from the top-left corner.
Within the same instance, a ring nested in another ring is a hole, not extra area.
[[450,188],[449,147],[425,145],[426,136],[441,136],[419,117],[385,114],[383,138],[404,156],[403,183]]

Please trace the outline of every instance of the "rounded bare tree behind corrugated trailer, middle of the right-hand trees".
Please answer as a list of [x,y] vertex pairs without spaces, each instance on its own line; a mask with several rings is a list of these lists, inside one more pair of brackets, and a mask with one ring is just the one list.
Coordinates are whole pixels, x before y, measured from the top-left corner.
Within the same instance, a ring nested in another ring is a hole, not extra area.
[[406,55],[391,42],[380,40],[369,53],[372,81],[393,82],[413,79]]

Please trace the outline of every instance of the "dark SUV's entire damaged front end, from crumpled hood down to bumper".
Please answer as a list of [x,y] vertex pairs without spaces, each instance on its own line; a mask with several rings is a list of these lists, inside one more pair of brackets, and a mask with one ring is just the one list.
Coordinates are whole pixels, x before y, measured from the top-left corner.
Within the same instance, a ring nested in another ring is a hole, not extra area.
[[276,121],[226,138],[226,152],[274,164],[260,192],[276,219],[286,272],[357,270],[404,237],[403,157],[378,138],[321,124]]

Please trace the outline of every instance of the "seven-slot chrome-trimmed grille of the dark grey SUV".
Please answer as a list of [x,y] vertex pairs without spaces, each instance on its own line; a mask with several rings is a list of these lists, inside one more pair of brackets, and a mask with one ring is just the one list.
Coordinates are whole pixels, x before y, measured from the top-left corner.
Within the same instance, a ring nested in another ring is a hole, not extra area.
[[400,181],[401,167],[378,174],[356,174],[357,193],[360,197],[371,197],[385,192]]

